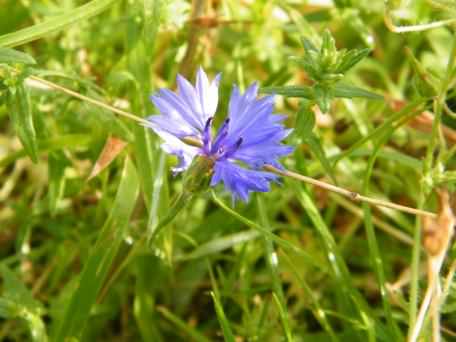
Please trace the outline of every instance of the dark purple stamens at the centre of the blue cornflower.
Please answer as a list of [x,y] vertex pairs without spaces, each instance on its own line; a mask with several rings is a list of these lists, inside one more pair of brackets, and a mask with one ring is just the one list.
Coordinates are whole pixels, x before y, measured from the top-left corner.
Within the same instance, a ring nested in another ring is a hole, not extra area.
[[219,128],[215,139],[211,137],[213,118],[207,119],[203,132],[203,155],[214,161],[221,161],[230,158],[242,145],[244,139],[239,137],[235,143],[227,140],[230,118],[225,119]]

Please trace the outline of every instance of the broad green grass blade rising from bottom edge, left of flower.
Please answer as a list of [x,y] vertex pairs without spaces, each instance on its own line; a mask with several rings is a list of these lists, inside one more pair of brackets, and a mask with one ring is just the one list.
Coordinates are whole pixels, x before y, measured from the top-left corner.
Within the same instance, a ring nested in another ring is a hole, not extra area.
[[95,304],[120,243],[126,234],[128,221],[138,196],[138,187],[135,167],[127,158],[110,215],[84,265],[79,286],[65,310],[55,338],[56,341],[81,337],[90,317],[90,309]]

